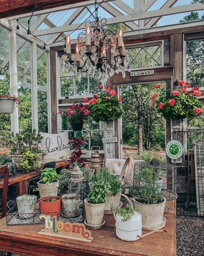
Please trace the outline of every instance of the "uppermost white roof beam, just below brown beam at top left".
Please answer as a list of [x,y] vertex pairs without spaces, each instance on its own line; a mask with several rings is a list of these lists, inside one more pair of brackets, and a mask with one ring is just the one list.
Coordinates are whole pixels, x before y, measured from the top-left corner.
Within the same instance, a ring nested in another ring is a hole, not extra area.
[[[114,0],[104,0],[103,3],[106,3],[106,2],[112,2]],[[98,4],[100,4],[102,2],[102,0],[99,0],[97,1]],[[74,9],[74,8],[78,8],[78,7],[84,7],[84,6],[89,6],[89,5],[93,5],[95,3],[94,0],[89,0],[89,1],[84,1],[84,2],[80,2],[80,3],[72,3],[72,4],[68,4],[68,5],[65,5],[65,6],[59,6],[59,7],[56,7],[56,8],[49,8],[49,9],[46,9],[46,10],[42,10],[42,11],[35,11],[34,12],[34,16],[35,15],[41,15],[41,14],[45,14],[45,13],[55,13],[55,12],[60,12],[62,10],[68,10],[68,9]],[[22,14],[22,15],[16,15],[16,16],[11,16],[11,17],[8,17],[6,19],[8,20],[12,20],[12,19],[21,19],[21,18],[26,18],[26,17],[30,17],[31,16],[31,13],[25,13],[25,14]]]

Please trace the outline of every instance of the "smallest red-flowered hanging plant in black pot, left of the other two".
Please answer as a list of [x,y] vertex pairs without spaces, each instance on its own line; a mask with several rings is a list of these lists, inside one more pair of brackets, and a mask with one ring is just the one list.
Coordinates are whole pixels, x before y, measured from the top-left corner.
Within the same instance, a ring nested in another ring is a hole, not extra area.
[[70,122],[73,131],[82,131],[83,121],[88,117],[90,111],[87,109],[86,104],[74,102],[71,105],[71,109],[59,111],[58,114]]

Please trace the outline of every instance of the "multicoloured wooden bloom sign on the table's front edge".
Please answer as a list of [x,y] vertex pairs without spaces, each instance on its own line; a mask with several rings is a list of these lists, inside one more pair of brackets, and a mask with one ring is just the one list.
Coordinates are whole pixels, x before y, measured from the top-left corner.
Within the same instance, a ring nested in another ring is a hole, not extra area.
[[93,237],[91,237],[91,231],[86,229],[83,223],[71,223],[57,221],[57,217],[45,214],[40,214],[40,219],[45,221],[45,229],[40,230],[37,234],[62,237],[67,240],[78,240],[86,243],[91,243]]

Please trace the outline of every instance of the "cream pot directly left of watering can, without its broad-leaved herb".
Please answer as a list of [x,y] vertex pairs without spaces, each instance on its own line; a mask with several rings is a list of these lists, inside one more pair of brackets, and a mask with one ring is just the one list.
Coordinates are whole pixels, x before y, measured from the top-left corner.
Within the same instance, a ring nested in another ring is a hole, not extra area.
[[105,203],[103,204],[90,204],[88,198],[84,200],[87,224],[99,226],[102,224],[103,214],[105,211]]

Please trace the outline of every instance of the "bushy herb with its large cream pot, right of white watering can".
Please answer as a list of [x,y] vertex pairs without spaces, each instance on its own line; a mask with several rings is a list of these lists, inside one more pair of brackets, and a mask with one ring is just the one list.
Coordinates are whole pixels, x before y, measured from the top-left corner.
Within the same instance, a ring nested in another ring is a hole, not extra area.
[[142,226],[145,230],[158,230],[164,227],[164,208],[166,199],[161,193],[158,174],[154,169],[143,168],[135,174],[136,186],[130,188],[130,195],[137,211],[142,214]]

